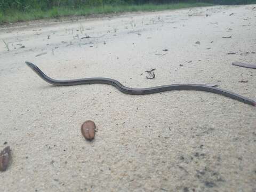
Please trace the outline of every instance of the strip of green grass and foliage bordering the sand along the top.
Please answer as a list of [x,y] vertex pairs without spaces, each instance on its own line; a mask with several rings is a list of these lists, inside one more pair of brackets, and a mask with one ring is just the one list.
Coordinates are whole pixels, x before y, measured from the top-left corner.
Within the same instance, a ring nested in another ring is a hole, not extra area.
[[212,4],[256,4],[256,0],[0,0],[0,23],[130,11],[181,9]]

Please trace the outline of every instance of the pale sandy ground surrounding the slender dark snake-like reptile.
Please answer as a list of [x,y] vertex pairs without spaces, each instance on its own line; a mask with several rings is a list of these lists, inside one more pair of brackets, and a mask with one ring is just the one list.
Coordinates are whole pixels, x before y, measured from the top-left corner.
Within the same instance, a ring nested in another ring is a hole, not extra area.
[[[109,77],[130,87],[217,83],[255,100],[256,70],[231,65],[256,63],[253,7],[2,26],[10,51],[1,41],[0,147],[10,145],[12,159],[0,190],[256,191],[255,107],[201,91],[57,87],[24,63],[54,78]],[[155,79],[145,77],[150,68]],[[81,135],[88,119],[98,129],[93,142]]]

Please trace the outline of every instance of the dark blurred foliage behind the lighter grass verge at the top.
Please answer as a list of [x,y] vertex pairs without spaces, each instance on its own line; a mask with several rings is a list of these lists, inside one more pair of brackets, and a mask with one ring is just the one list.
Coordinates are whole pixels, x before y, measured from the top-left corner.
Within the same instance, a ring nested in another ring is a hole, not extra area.
[[[253,4],[256,0],[0,0],[0,10],[48,10],[52,7],[70,7],[77,9],[84,6],[104,6],[104,5],[131,5],[131,4],[166,4],[166,3],[191,3],[204,2],[214,4]],[[53,12],[53,14],[58,14]]]

